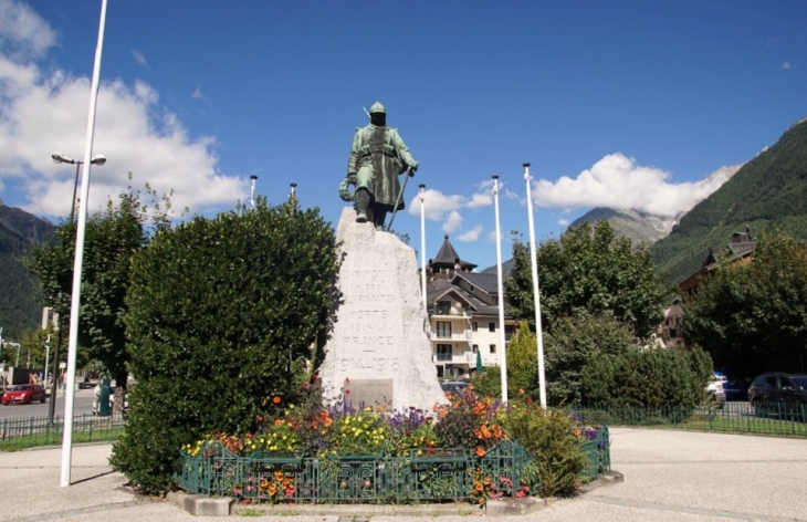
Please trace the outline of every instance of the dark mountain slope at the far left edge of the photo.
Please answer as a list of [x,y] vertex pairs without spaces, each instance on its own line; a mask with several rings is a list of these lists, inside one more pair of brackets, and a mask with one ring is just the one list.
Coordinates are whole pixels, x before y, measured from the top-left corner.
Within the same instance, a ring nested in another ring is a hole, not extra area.
[[17,340],[23,330],[40,324],[38,285],[22,258],[34,244],[50,241],[53,229],[50,221],[0,201],[0,327],[4,340]]

